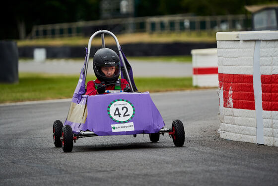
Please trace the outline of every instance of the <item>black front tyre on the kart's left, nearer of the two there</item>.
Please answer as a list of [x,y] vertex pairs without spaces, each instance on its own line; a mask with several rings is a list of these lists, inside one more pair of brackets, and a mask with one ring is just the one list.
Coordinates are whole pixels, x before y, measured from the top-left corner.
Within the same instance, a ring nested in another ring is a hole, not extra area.
[[65,125],[62,129],[62,148],[64,152],[71,152],[73,147],[73,133],[70,125]]

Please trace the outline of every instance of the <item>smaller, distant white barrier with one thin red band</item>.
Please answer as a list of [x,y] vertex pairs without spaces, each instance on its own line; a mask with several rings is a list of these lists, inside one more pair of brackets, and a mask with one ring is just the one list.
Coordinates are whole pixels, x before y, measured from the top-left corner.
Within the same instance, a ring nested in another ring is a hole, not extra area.
[[193,67],[193,86],[217,87],[217,49],[191,50]]

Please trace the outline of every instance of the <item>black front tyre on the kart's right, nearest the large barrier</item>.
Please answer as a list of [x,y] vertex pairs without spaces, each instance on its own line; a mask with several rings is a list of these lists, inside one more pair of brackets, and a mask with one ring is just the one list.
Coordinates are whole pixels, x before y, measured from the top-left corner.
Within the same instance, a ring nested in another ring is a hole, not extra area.
[[173,135],[172,135],[172,139],[173,142],[175,144],[175,146],[177,147],[181,147],[184,144],[184,140],[185,140],[185,132],[184,132],[184,127],[183,127],[183,123],[181,120],[175,120],[172,123],[172,131],[173,131]]

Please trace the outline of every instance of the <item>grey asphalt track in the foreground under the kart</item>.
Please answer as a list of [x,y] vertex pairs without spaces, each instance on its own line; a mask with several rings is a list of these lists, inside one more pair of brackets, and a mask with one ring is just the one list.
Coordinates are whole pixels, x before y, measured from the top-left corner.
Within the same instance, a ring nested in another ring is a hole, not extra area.
[[218,137],[216,90],[153,93],[167,127],[184,122],[183,147],[168,134],[82,138],[56,148],[52,124],[69,100],[0,106],[0,185],[277,186],[278,147]]

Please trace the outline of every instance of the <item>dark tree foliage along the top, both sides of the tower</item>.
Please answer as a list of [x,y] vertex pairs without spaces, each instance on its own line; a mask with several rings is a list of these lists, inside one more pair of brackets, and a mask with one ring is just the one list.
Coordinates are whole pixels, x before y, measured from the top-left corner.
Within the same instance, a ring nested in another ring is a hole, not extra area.
[[[0,39],[24,38],[33,25],[96,20],[101,0],[19,0],[2,4]],[[276,0],[135,0],[135,16],[189,13],[225,15],[245,13],[244,5]],[[21,35],[19,34],[21,30]],[[22,33],[24,30],[24,33]]]

